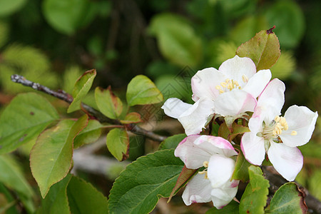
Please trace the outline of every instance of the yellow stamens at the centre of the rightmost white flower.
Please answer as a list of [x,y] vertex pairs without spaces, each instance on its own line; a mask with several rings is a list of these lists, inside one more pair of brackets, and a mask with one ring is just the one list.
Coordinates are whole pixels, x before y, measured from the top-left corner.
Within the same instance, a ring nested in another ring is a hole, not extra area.
[[[274,120],[268,124],[263,125],[263,132],[258,133],[258,136],[265,138],[265,140],[270,140],[278,138],[282,131],[287,131],[289,126],[287,126],[287,121],[284,117],[275,116]],[[292,131],[291,136],[296,136],[297,132]]]

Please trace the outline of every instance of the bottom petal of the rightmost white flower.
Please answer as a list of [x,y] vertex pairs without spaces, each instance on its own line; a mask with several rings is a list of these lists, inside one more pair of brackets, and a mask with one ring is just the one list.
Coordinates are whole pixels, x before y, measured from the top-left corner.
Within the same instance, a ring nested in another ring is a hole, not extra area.
[[300,172],[303,165],[303,156],[296,147],[286,146],[284,143],[270,142],[267,156],[283,178],[292,181]]

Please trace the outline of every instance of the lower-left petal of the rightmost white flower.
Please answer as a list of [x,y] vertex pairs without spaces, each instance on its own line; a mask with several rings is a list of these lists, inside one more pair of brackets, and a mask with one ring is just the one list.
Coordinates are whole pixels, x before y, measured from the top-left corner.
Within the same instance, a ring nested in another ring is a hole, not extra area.
[[241,149],[248,162],[254,165],[261,165],[265,158],[264,138],[256,136],[256,133],[244,133],[241,143]]

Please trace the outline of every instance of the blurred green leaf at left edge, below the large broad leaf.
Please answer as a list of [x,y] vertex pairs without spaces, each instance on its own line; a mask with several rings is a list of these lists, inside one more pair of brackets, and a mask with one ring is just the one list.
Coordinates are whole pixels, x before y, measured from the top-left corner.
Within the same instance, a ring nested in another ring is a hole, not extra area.
[[4,183],[12,190],[24,195],[26,198],[31,198],[34,195],[29,183],[24,178],[24,174],[14,158],[11,156],[0,156],[0,182]]

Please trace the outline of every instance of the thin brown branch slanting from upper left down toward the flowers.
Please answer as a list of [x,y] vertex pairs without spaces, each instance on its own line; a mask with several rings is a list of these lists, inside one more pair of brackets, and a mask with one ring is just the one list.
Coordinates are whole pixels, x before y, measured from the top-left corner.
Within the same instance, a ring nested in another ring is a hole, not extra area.
[[[53,91],[50,88],[48,88],[46,86],[42,86],[39,83],[34,83],[32,81],[29,81],[28,79],[24,78],[24,76],[20,76],[18,74],[12,75],[11,81],[13,81],[15,83],[21,83],[24,86],[34,88],[34,90],[36,90],[36,91],[42,91],[42,92],[47,93],[51,96],[54,96],[58,99],[66,101],[67,103],[71,103],[73,101],[73,97],[70,94],[66,93],[65,91],[62,91],[62,90]],[[97,120],[100,121],[101,123],[111,123],[114,125],[121,125],[120,121],[113,120],[111,118],[104,116],[103,113],[101,113],[100,111],[96,110],[95,108],[93,108],[91,106],[86,105],[85,103],[81,103],[81,109],[83,109],[83,111],[85,111],[86,113],[89,113],[91,116],[94,116],[95,118],[97,118]],[[128,128],[128,131],[131,131],[131,132],[139,134],[139,135],[146,136],[147,138],[150,138],[153,141],[161,142],[161,141],[164,141],[166,138],[165,136],[159,136],[156,133],[153,133],[151,131],[147,131],[147,130],[137,126],[136,124],[126,125],[126,128]]]

